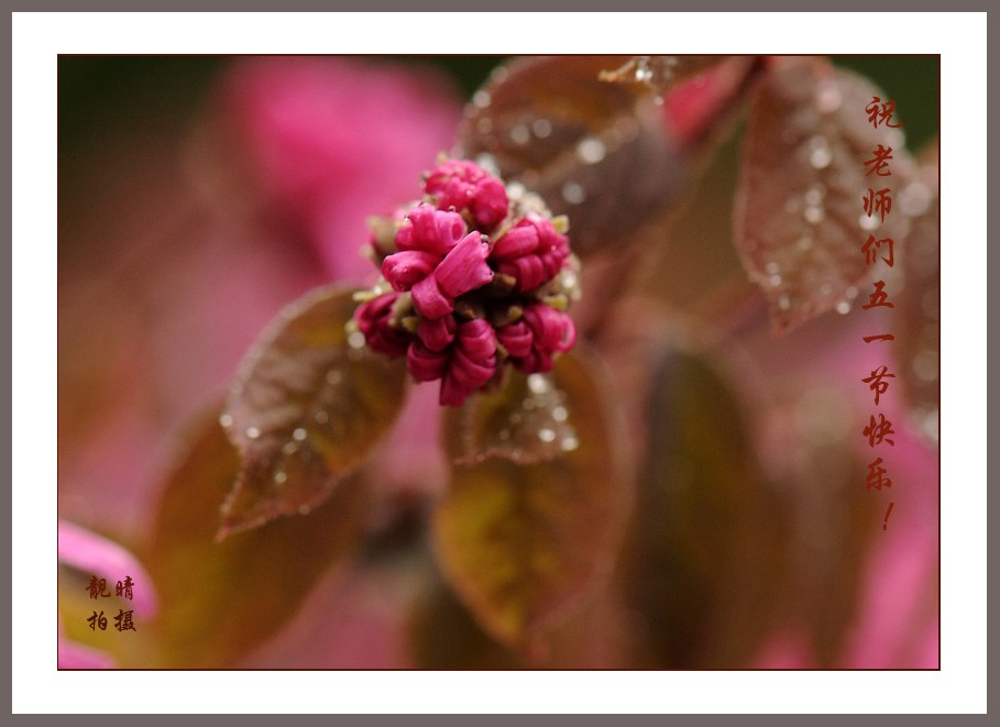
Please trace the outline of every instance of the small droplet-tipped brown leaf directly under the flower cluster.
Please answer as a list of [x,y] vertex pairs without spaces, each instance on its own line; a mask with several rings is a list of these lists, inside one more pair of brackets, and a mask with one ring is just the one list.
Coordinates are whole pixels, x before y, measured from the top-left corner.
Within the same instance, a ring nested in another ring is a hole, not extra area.
[[512,371],[496,392],[471,397],[447,416],[449,450],[460,464],[503,456],[530,464],[562,456],[580,444],[575,412],[549,374]]

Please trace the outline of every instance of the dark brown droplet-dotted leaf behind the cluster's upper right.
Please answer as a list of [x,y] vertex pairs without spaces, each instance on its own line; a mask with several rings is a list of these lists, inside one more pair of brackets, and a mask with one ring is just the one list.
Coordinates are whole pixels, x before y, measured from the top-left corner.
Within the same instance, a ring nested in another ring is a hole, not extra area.
[[581,257],[622,243],[681,185],[649,89],[602,81],[625,57],[523,59],[495,71],[465,111],[458,153],[490,155],[507,181],[567,214]]

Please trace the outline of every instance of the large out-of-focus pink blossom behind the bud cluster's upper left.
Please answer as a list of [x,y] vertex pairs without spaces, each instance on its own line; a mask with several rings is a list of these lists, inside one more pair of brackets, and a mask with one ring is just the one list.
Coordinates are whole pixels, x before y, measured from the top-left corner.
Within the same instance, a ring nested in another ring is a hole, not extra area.
[[442,77],[348,58],[245,59],[220,98],[265,198],[337,279],[366,276],[367,217],[413,197],[460,119]]

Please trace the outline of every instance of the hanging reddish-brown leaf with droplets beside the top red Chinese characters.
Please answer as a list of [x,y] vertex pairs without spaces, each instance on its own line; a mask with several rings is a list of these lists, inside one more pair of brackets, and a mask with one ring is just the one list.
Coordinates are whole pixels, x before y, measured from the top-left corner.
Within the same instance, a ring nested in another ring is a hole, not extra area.
[[[862,199],[898,189],[913,164],[898,130],[867,121],[880,95],[866,79],[816,58],[777,58],[756,89],[736,198],[736,247],[768,298],[776,332],[857,293],[866,274]],[[884,96],[884,95],[882,95]],[[892,146],[891,177],[866,176],[877,144]],[[878,221],[878,214],[870,218]],[[867,218],[864,224],[872,224]],[[902,238],[895,208],[878,234]]]

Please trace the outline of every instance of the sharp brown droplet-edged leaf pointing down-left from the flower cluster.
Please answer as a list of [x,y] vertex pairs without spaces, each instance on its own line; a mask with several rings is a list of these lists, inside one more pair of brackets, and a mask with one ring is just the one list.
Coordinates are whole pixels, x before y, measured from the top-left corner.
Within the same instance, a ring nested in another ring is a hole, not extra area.
[[240,477],[220,537],[308,513],[358,470],[402,409],[402,361],[358,346],[351,290],[317,288],[283,310],[246,354],[226,414]]

